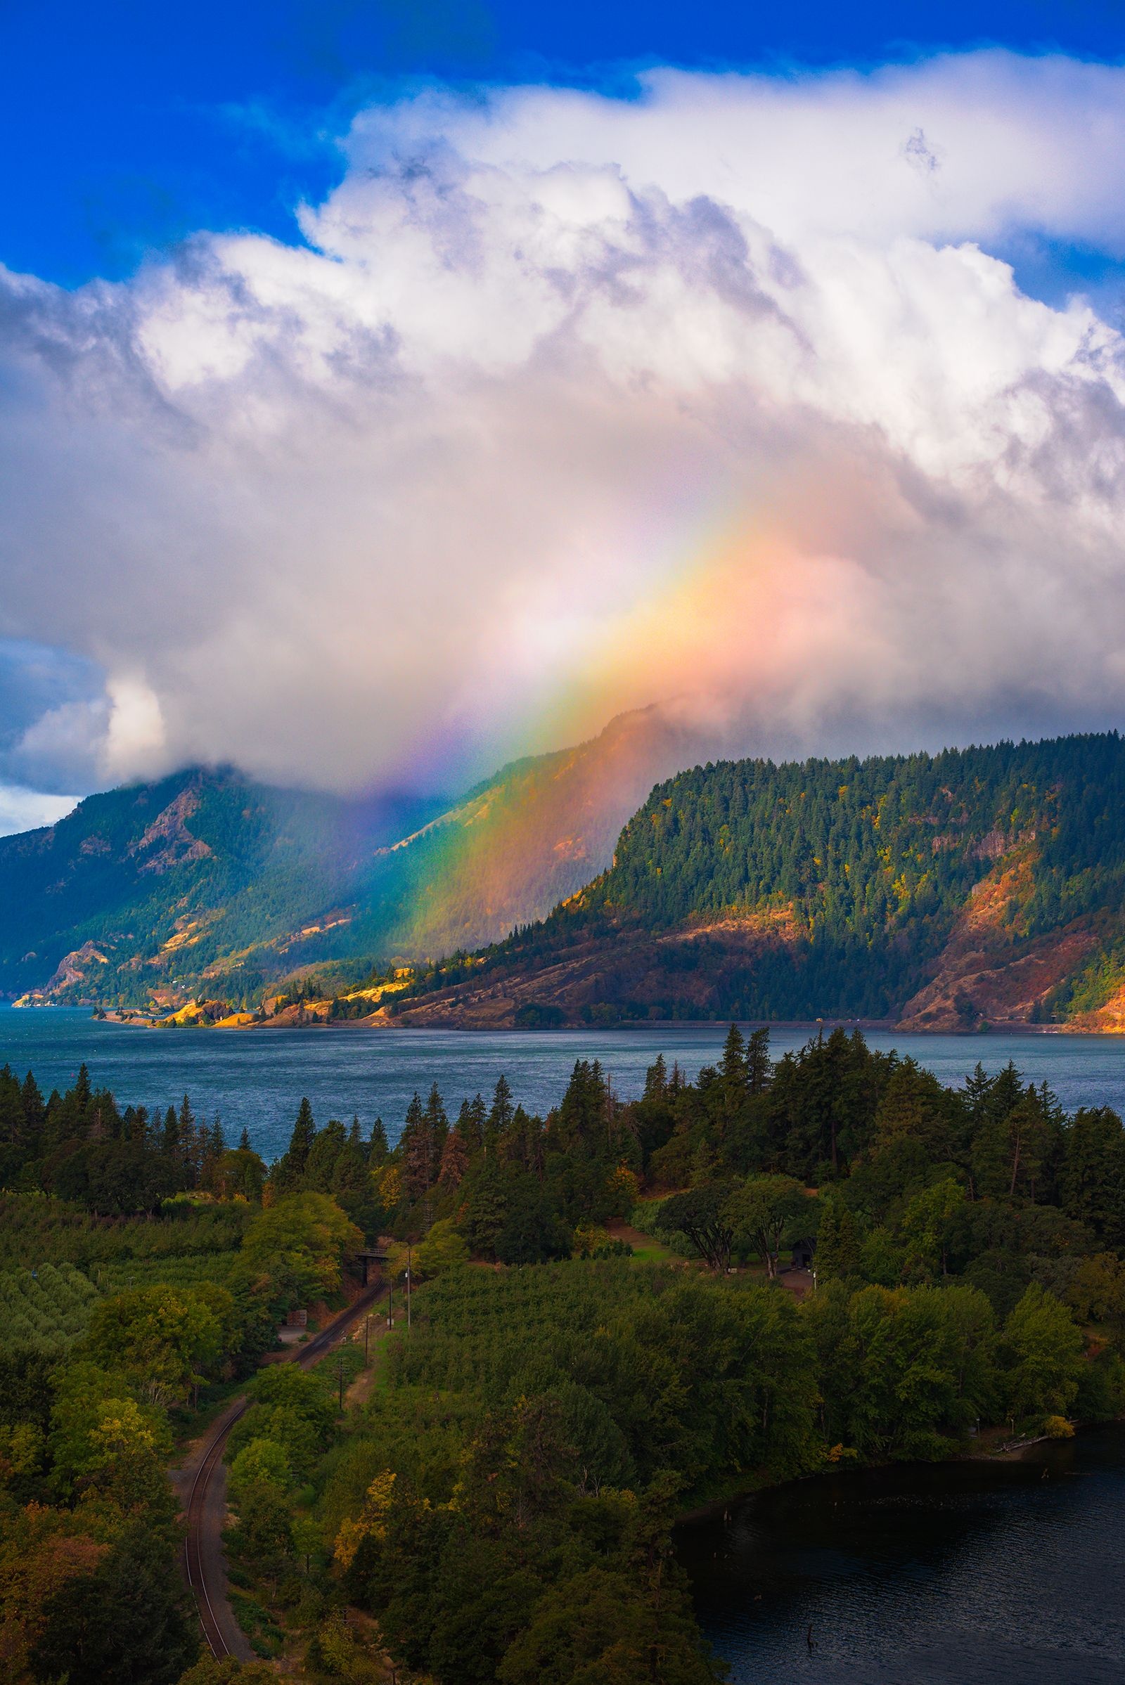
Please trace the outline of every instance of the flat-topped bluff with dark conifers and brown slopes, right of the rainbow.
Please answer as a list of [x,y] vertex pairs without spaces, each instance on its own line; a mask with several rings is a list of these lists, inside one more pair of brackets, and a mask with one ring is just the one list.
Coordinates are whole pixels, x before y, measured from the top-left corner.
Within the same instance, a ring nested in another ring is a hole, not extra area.
[[611,869],[448,986],[428,979],[396,1023],[1117,1028],[1123,890],[1117,735],[722,762],[658,785]]

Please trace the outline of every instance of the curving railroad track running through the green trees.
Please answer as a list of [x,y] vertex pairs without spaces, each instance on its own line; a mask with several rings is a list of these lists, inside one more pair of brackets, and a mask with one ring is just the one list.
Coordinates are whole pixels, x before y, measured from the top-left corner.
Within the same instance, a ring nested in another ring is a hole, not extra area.
[[[330,1351],[352,1323],[364,1314],[379,1292],[379,1282],[372,1282],[359,1294],[347,1309],[333,1316],[327,1328],[298,1348],[290,1360],[298,1368],[312,1365]],[[226,1483],[216,1479],[222,1473],[222,1452],[234,1424],[246,1415],[251,1400],[234,1399],[222,1415],[212,1424],[199,1456],[199,1466],[187,1490],[187,1532],[184,1535],[184,1577],[195,1597],[199,1624],[212,1656],[236,1656],[239,1661],[253,1661],[254,1651],[243,1628],[234,1619],[231,1599],[227,1597],[227,1579],[222,1562],[222,1522],[226,1510]]]

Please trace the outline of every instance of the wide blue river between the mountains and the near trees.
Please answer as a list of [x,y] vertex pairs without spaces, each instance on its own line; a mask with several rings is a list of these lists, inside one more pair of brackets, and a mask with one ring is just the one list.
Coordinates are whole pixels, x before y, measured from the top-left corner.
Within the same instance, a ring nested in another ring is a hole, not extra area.
[[[780,1056],[815,1031],[771,1033]],[[664,1053],[696,1075],[719,1056],[724,1024],[657,1024],[643,1030],[143,1030],[101,1023],[77,1008],[0,1006],[0,1065],[35,1072],[40,1089],[66,1089],[84,1062],[91,1080],[121,1105],[179,1104],[187,1092],[227,1134],[249,1131],[273,1159],[308,1095],[317,1122],[359,1114],[364,1132],[382,1117],[397,1141],[411,1094],[433,1082],[455,1110],[463,1095],[485,1095],[504,1072],[532,1112],[561,1097],[576,1058],[600,1058],[615,1090],[640,1094],[645,1068]],[[1125,1036],[965,1035],[906,1036],[871,1031],[876,1048],[913,1053],[941,1082],[958,1083],[980,1060],[989,1072],[1014,1058],[1027,1082],[1048,1082],[1068,1110],[1113,1105],[1125,1115]]]

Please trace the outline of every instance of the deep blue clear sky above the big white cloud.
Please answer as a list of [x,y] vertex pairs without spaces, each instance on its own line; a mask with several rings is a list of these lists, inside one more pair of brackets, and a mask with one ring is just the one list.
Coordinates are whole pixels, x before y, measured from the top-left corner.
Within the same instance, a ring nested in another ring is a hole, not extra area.
[[[340,175],[332,138],[349,111],[403,78],[621,86],[633,62],[1125,52],[1115,0],[0,0],[0,259],[67,286],[128,275],[200,227],[293,239],[295,202]],[[1051,286],[1058,254],[1034,261]],[[1098,276],[1096,259],[1073,261]]]

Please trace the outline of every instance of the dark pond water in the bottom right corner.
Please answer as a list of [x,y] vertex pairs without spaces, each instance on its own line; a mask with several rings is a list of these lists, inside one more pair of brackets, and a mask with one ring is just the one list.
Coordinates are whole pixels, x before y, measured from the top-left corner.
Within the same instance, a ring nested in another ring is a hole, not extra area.
[[1125,1680],[1120,1427],[1032,1461],[803,1481],[679,1549],[733,1685]]

